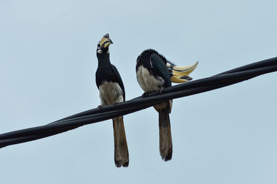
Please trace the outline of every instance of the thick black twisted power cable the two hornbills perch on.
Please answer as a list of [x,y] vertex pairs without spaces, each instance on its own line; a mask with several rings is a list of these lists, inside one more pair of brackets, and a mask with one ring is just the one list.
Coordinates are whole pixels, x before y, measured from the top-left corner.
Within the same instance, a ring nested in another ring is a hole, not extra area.
[[123,103],[117,103],[116,105],[107,105],[101,109],[95,108],[80,112],[47,125],[0,134],[0,147],[53,136],[83,125],[97,123],[116,116],[123,116],[125,114],[143,110],[168,99],[177,99],[184,96],[215,90],[217,88],[223,88],[227,85],[239,83],[261,74],[276,71],[277,57],[251,63],[233,70],[222,72],[215,76],[165,88],[162,94],[159,94],[159,92],[152,92],[145,98],[137,97]]

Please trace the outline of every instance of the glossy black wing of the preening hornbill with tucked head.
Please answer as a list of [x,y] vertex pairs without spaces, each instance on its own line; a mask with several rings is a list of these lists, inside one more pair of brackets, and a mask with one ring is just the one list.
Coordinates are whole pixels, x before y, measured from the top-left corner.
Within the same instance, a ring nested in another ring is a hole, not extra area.
[[172,85],[166,63],[161,59],[161,57],[159,57],[158,54],[151,54],[150,65],[152,68],[152,72],[161,76],[161,78],[165,80],[163,87],[169,87]]

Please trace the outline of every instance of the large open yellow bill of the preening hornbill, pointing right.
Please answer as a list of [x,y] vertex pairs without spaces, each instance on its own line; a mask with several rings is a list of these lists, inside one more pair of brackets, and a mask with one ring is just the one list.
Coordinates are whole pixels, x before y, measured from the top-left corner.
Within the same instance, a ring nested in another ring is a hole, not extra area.
[[168,72],[170,72],[170,79],[172,83],[184,83],[192,80],[188,74],[193,72],[198,65],[198,61],[194,65],[190,66],[176,66],[172,63],[166,63]]

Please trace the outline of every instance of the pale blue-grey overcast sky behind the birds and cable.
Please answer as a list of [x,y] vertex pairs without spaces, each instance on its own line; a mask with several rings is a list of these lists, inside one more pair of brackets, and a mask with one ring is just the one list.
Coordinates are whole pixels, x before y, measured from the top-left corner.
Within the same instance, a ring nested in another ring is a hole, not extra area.
[[[126,99],[153,48],[193,79],[277,56],[276,1],[0,1],[0,133],[100,104],[96,47],[109,33]],[[277,183],[277,73],[173,103],[172,161],[158,114],[124,116],[129,167],[114,165],[111,120],[0,149],[1,183]]]

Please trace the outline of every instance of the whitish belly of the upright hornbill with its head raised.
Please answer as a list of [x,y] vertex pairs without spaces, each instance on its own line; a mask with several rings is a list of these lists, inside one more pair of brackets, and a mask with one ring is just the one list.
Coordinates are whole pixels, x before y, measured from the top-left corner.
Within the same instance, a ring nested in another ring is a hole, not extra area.
[[123,102],[123,90],[118,83],[105,81],[99,86],[101,105]]

